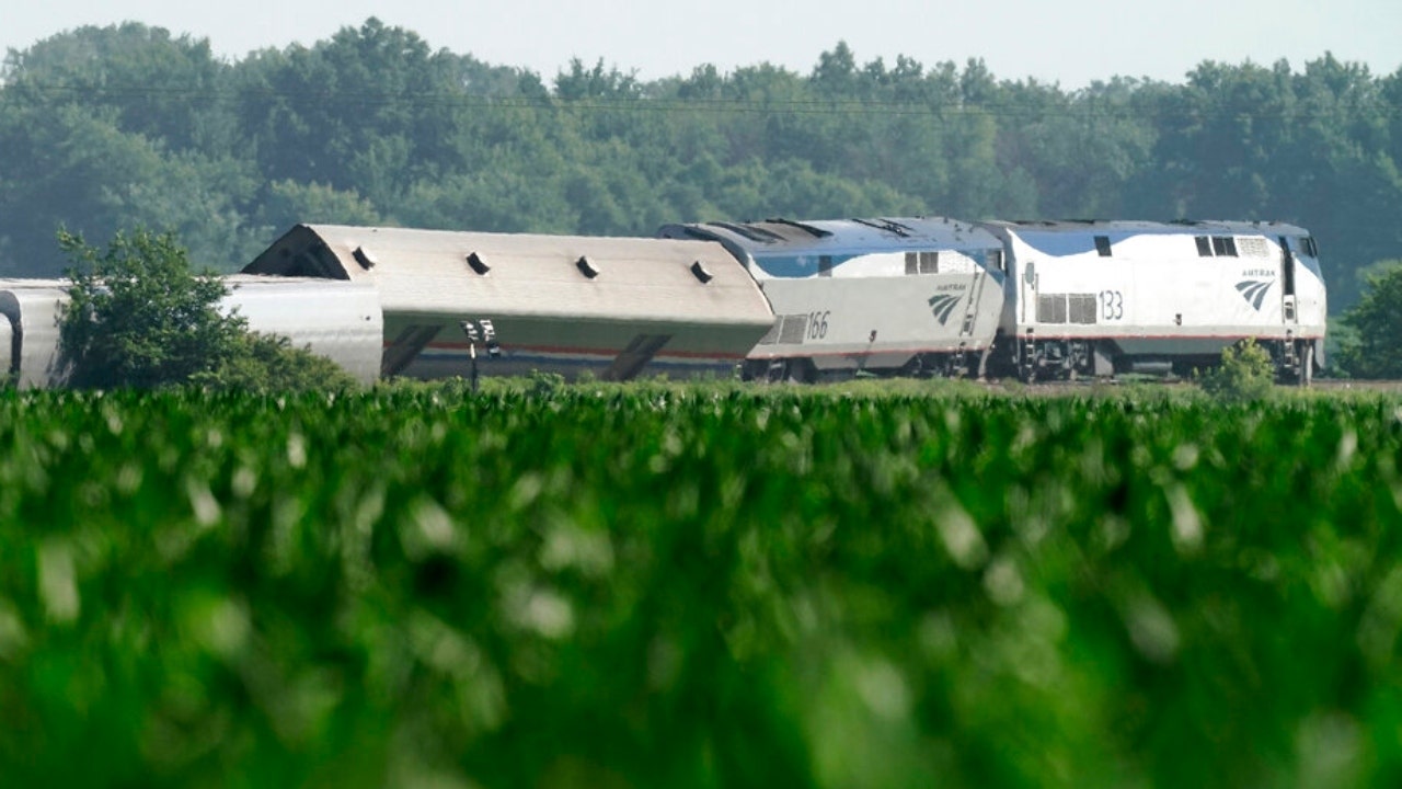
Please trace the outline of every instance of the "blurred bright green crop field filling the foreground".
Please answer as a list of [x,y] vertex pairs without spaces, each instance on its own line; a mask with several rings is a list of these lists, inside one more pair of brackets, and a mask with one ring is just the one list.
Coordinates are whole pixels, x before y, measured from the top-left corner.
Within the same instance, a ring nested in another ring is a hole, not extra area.
[[17,786],[1402,781],[1395,400],[10,392],[0,441]]

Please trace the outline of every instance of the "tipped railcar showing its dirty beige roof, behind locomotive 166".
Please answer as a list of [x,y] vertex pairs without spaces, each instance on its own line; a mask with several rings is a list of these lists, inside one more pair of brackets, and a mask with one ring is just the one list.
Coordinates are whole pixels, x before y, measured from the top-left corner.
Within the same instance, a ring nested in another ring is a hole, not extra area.
[[244,272],[373,284],[383,376],[729,373],[774,323],[719,244],[299,225]]

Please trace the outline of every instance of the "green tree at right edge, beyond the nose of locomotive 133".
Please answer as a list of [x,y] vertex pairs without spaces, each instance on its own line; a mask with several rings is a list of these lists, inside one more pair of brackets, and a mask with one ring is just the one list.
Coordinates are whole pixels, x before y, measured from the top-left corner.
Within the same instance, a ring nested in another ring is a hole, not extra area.
[[1402,378],[1402,261],[1387,261],[1367,278],[1359,303],[1343,313],[1350,330],[1339,366],[1354,378]]

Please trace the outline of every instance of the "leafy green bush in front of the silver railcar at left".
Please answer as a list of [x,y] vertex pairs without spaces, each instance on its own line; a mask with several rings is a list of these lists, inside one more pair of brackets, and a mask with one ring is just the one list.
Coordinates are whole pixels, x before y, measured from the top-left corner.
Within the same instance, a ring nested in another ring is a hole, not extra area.
[[119,232],[98,250],[60,230],[59,246],[74,261],[59,324],[72,386],[353,386],[331,361],[294,350],[286,338],[250,334],[243,316],[220,312],[224,282],[213,272],[192,272],[170,233]]

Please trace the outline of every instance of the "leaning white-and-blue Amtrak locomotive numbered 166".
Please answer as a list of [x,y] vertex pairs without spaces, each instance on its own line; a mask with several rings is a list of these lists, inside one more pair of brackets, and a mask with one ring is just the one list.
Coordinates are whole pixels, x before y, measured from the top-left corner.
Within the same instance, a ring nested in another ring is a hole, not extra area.
[[666,225],[721,241],[760,284],[775,323],[749,378],[859,371],[983,375],[1004,310],[1001,241],[944,218]]

